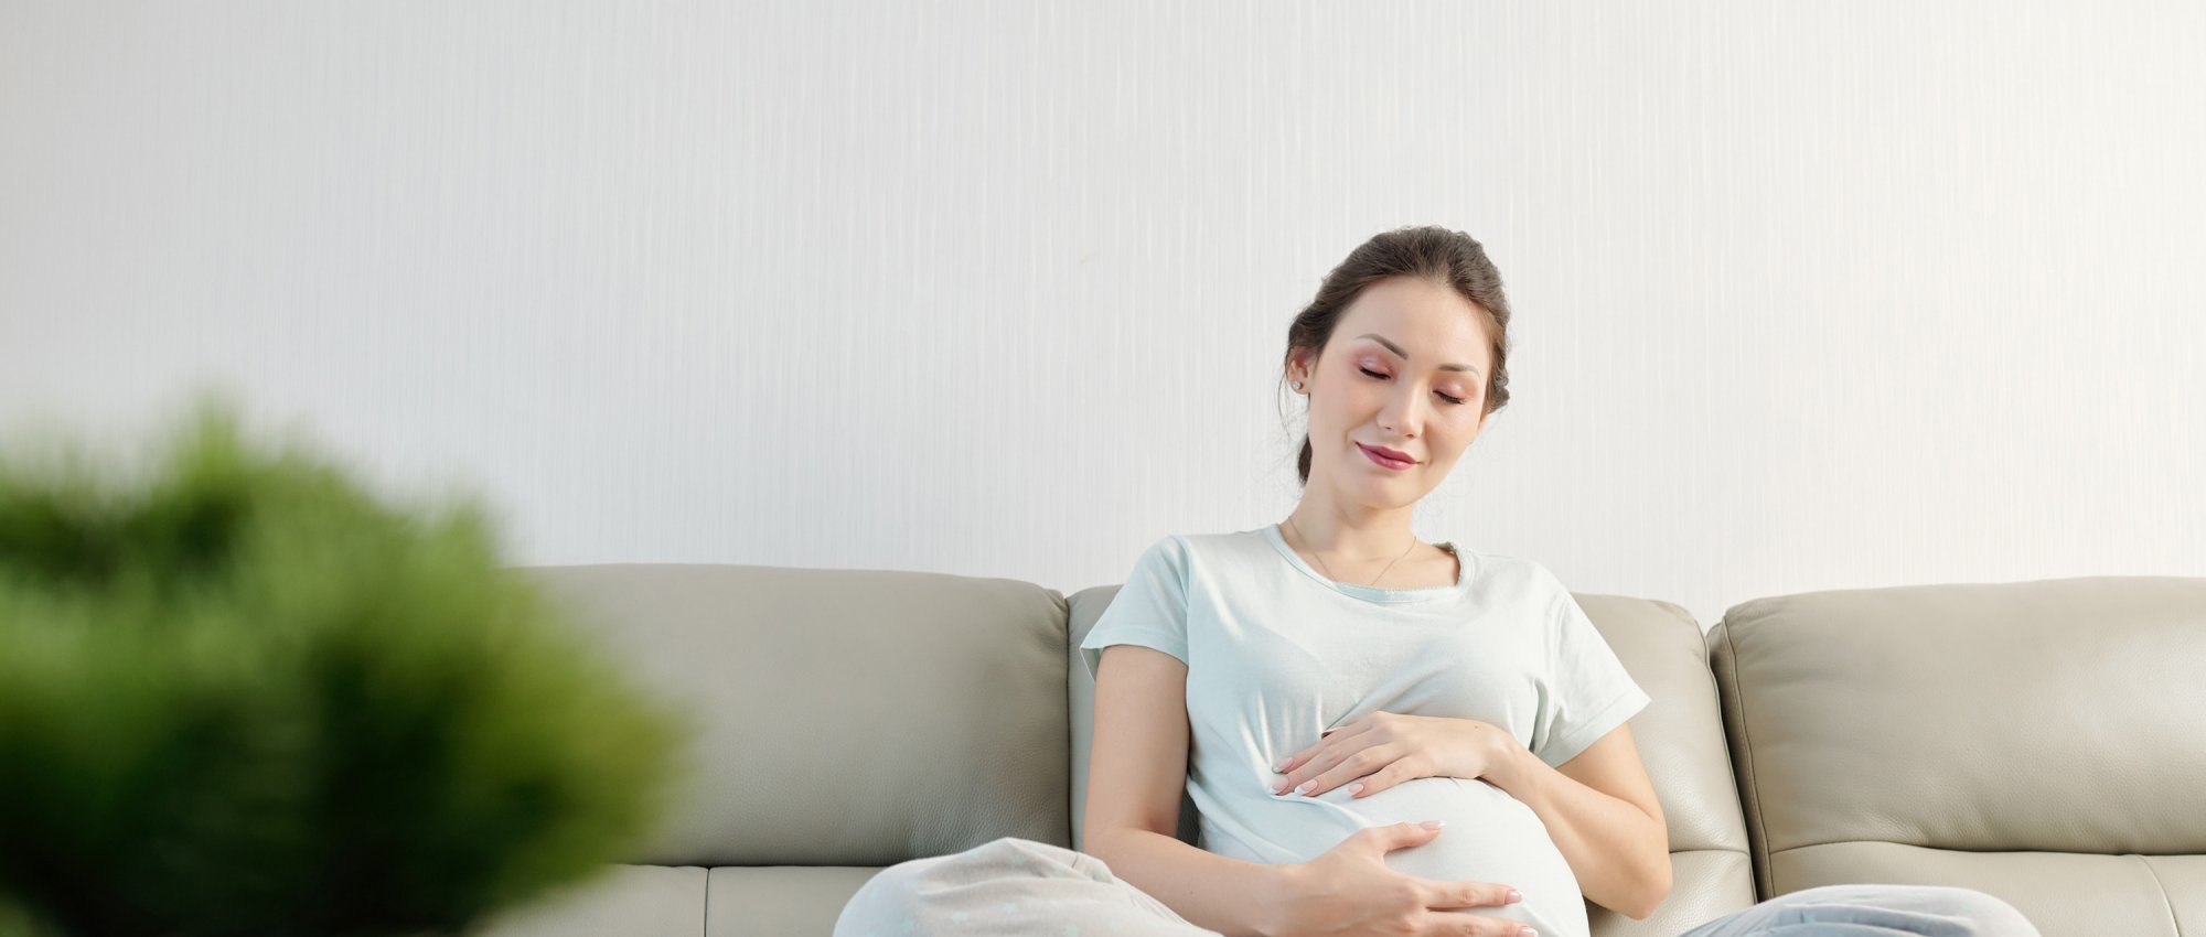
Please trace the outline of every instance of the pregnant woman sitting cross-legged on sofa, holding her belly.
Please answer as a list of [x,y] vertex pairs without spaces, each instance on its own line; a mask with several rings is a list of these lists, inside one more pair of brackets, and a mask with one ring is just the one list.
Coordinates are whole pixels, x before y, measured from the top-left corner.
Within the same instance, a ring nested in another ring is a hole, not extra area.
[[[1509,403],[1485,249],[1385,231],[1288,326],[1308,397],[1277,525],[1156,540],[1096,620],[1085,851],[999,838],[885,869],[869,935],[1588,937],[1643,919],[1668,825],[1626,725],[1648,706],[1542,564],[1418,542],[1410,516]],[[1182,791],[1200,847],[1180,842]],[[2016,935],[1950,886],[1780,895],[1685,937]]]

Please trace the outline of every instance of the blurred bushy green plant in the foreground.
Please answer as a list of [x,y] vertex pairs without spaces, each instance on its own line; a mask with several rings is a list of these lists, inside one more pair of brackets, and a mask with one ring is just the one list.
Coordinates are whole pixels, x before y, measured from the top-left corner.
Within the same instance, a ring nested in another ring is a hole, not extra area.
[[183,423],[137,483],[0,448],[0,933],[452,935],[651,836],[686,719],[474,500]]

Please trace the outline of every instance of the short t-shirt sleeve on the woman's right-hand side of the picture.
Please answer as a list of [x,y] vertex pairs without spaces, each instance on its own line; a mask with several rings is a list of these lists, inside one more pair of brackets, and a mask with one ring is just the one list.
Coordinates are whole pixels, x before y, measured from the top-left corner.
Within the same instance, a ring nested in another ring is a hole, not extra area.
[[1557,582],[1555,593],[1549,672],[1538,681],[1540,710],[1529,745],[1549,767],[1562,767],[1652,701],[1571,591]]

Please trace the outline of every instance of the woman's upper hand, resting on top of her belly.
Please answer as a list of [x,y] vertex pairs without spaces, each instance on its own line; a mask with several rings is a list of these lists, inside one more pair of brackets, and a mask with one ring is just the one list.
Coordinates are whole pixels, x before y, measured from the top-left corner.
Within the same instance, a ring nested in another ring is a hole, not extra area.
[[[1326,730],[1317,745],[1273,765],[1286,778],[1271,791],[1319,796],[1348,785],[1350,796],[1368,798],[1412,778],[1469,780],[1498,765],[1509,747],[1522,743],[1478,719],[1372,712]],[[1313,787],[1299,789],[1306,783]]]

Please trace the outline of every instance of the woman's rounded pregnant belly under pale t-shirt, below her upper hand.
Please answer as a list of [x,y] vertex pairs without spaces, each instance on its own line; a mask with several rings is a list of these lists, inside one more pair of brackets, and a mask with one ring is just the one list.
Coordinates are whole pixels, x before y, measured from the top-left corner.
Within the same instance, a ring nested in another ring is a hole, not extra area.
[[1460,911],[1518,919],[1540,930],[1540,937],[1588,935],[1577,875],[1540,814],[1485,780],[1416,778],[1368,798],[1350,796],[1346,787],[1315,798],[1271,794],[1253,807],[1260,816],[1246,822],[1231,816],[1213,822],[1204,814],[1204,849],[1229,855],[1246,851],[1251,855],[1242,858],[1257,862],[1306,862],[1363,827],[1447,820],[1432,842],[1385,853],[1388,869],[1438,882],[1507,884],[1524,893],[1524,900]]

